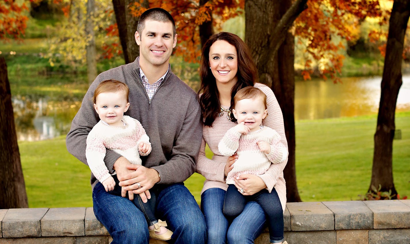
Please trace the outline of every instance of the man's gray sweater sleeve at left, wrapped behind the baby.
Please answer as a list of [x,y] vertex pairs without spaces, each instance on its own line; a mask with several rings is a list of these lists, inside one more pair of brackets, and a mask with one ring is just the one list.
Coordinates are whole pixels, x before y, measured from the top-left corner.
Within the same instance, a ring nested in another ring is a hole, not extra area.
[[[87,164],[85,156],[85,148],[87,136],[94,125],[99,121],[98,114],[93,107],[93,95],[97,85],[103,81],[103,75],[100,74],[89,87],[87,93],[82,100],[82,104],[73,121],[71,122],[71,129],[66,137],[66,146],[69,153],[74,155],[84,164]],[[104,158],[105,165],[109,173],[113,173],[112,169],[114,162],[121,157],[120,154],[107,150]],[[87,164],[88,165],[88,164]]]

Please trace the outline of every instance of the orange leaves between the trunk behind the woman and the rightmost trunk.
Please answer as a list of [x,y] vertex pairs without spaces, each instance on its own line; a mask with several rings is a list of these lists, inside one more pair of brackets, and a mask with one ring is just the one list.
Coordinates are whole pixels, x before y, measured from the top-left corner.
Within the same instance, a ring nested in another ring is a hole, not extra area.
[[[344,44],[360,37],[360,24],[365,18],[381,18],[385,14],[378,0],[309,0],[308,8],[294,22],[295,35],[305,45],[305,68],[308,60],[317,62],[322,75],[335,79],[341,72]],[[303,73],[304,78],[309,78]]]

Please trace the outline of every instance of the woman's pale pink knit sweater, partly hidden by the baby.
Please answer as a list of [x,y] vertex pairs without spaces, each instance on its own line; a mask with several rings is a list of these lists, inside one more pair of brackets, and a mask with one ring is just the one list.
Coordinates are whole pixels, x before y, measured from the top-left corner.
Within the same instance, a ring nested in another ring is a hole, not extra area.
[[[285,136],[285,127],[283,124],[282,110],[280,110],[278,101],[276,100],[273,91],[264,84],[256,83],[255,87],[261,89],[266,94],[266,102],[268,105],[268,116],[262,121],[262,125],[267,126],[278,132],[283,146],[287,149],[287,141]],[[228,107],[224,107],[228,109]],[[227,156],[223,156],[218,150],[219,141],[225,133],[232,127],[237,125],[228,121],[226,112],[221,117],[216,117],[212,127],[203,126],[203,139],[196,163],[196,172],[203,175],[206,180],[202,188],[202,192],[210,188],[228,189],[225,182],[225,164],[228,160]],[[212,160],[205,156],[205,143],[208,144],[212,153],[214,153]],[[266,189],[269,192],[275,187],[278,192],[282,209],[285,210],[286,204],[286,185],[283,178],[283,169],[287,163],[287,158],[278,164],[271,164],[269,169],[259,177],[266,184]],[[201,192],[201,194],[202,194]]]

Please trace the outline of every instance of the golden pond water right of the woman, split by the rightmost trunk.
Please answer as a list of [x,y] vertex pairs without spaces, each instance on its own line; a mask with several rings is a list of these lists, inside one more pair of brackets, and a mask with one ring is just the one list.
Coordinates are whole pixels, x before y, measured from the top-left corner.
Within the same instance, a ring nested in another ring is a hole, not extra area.
[[[308,80],[295,84],[295,119],[377,114],[381,77],[342,78],[342,83]],[[410,110],[410,75],[403,76],[396,111]]]

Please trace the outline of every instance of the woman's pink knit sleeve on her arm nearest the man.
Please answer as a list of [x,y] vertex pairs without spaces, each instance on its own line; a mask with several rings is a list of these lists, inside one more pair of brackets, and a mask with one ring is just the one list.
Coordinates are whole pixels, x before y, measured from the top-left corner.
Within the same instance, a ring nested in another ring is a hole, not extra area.
[[207,180],[225,182],[225,163],[210,160],[205,156],[205,140],[202,139],[201,148],[196,163],[196,172]]

